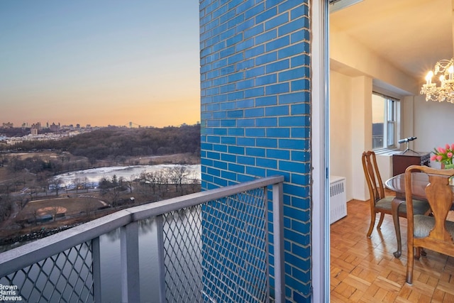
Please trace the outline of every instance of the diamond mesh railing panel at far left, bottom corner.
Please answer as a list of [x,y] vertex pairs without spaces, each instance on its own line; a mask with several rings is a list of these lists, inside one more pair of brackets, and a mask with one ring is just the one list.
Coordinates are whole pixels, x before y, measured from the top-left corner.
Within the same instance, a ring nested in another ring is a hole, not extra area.
[[91,245],[82,243],[1,277],[0,285],[13,290],[4,294],[10,299],[5,302],[94,302]]

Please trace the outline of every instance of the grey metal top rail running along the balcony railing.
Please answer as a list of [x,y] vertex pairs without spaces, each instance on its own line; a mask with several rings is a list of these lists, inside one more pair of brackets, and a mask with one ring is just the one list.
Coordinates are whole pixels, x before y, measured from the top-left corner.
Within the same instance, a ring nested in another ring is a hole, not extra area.
[[160,216],[170,211],[195,206],[240,192],[246,192],[250,189],[266,187],[281,182],[284,182],[284,177],[280,175],[265,177],[250,182],[210,189],[205,192],[196,192],[194,194],[187,194],[181,197],[116,211],[114,214],[103,216],[102,218],[75,226],[66,231],[60,231],[60,233],[33,241],[33,243],[28,243],[0,253],[0,277],[9,275],[11,272],[49,258],[80,243],[92,240],[116,228],[126,226],[131,222]]

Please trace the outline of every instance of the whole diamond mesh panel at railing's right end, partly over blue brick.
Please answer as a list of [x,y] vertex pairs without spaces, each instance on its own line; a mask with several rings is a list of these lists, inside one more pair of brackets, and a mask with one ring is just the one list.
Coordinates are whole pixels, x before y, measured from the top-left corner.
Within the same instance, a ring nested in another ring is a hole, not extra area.
[[167,302],[267,302],[267,205],[253,189],[163,215]]

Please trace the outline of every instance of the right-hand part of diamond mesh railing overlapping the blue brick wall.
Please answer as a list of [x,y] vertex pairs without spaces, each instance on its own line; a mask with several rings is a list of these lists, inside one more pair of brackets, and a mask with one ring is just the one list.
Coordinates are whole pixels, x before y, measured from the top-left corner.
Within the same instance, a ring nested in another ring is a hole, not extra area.
[[265,195],[263,188],[253,189],[202,206],[202,267],[209,301],[267,301]]

